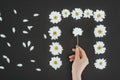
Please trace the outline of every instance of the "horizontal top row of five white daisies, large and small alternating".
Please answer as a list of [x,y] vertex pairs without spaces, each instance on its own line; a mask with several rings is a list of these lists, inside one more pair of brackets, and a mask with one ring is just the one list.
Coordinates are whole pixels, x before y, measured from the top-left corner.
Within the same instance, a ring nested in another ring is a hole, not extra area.
[[83,11],[81,8],[75,8],[72,12],[68,9],[63,9],[61,13],[58,11],[52,11],[49,15],[49,19],[51,23],[57,24],[62,21],[62,17],[68,18],[70,15],[75,20],[79,20],[82,17],[91,18],[92,16],[96,22],[102,22],[106,16],[103,10],[97,9],[96,11],[93,11],[91,9],[85,9]]

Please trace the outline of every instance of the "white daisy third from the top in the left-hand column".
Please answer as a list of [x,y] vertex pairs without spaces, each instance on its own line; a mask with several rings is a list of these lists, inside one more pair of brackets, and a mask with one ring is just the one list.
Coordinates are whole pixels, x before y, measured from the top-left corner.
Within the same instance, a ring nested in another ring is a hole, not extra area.
[[49,51],[53,55],[59,55],[59,54],[62,54],[63,47],[58,42],[52,42],[52,45],[50,45]]

